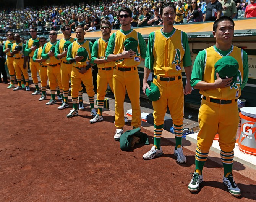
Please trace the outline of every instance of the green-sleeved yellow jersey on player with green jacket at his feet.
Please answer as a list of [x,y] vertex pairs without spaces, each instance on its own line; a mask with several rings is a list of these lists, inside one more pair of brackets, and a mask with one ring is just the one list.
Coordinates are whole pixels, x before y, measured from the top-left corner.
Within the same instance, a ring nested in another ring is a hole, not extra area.
[[146,42],[139,32],[133,29],[123,31],[122,29],[113,33],[109,38],[109,43],[106,50],[106,59],[109,54],[121,54],[123,52],[123,43],[127,38],[133,37],[138,41],[136,54],[133,58],[122,58],[115,61],[116,67],[136,67],[141,62],[141,58],[146,57]]

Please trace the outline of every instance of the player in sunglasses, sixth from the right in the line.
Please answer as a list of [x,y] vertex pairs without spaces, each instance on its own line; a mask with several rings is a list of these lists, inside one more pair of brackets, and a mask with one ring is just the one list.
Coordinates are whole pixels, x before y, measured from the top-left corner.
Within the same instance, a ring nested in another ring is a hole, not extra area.
[[[60,75],[62,79],[62,88],[63,88],[63,103],[61,106],[58,107],[59,110],[65,109],[69,107],[68,105],[68,92],[69,92],[69,81],[71,77],[71,71],[72,71],[72,65],[68,64],[66,61],[66,54],[68,52],[67,49],[64,49],[64,43],[66,41],[70,41],[71,43],[75,41],[74,38],[71,36],[71,28],[69,25],[63,25],[61,27],[62,33],[64,35],[64,38],[57,41],[56,47],[55,47],[55,53],[54,56],[56,59],[61,60],[61,67],[60,67]],[[79,110],[83,110],[83,92],[81,94],[81,100],[82,102],[79,102]],[[79,98],[80,99],[80,98]],[[80,106],[81,105],[81,106]]]

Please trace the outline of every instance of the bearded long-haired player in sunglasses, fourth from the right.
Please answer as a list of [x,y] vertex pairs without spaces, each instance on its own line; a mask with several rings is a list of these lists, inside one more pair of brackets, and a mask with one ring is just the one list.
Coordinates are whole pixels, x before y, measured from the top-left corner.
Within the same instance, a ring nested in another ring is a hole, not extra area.
[[97,102],[98,113],[90,120],[90,123],[102,121],[102,108],[104,106],[104,98],[106,95],[107,84],[113,89],[113,71],[114,62],[107,62],[105,60],[105,52],[108,45],[108,41],[111,33],[111,23],[109,21],[102,21],[100,27],[102,38],[99,38],[94,42],[92,47],[92,59],[91,61],[98,64],[98,76],[97,76]]

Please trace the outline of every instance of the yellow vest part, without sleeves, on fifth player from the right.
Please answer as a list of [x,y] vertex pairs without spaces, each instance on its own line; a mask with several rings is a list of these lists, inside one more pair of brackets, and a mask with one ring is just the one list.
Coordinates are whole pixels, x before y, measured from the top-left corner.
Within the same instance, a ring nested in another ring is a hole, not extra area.
[[71,45],[72,45],[72,58],[74,58],[76,56],[77,50],[80,47],[84,47],[86,49],[86,54],[87,54],[86,61],[84,61],[84,62],[73,62],[72,65],[74,67],[83,67],[83,66],[88,66],[90,64],[91,50],[90,50],[89,44],[90,44],[90,41],[87,41],[87,40],[85,40],[82,45],[79,45],[77,43],[77,41],[74,41],[73,43],[71,43]]

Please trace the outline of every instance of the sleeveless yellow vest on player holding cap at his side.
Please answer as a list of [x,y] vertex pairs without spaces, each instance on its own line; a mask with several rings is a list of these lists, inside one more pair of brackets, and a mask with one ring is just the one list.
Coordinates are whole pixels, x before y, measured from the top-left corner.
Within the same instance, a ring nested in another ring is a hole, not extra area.
[[183,67],[185,49],[182,45],[182,32],[175,29],[173,34],[166,38],[161,30],[154,32],[154,74],[162,77],[180,76]]

